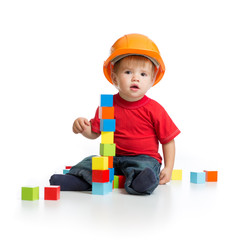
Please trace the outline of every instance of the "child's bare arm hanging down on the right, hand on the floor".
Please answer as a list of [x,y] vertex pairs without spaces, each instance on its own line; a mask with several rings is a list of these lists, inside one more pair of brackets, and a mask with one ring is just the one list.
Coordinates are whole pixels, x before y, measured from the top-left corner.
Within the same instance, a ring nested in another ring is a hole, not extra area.
[[175,141],[172,140],[166,144],[162,144],[165,167],[160,173],[159,184],[166,184],[170,181],[175,161]]

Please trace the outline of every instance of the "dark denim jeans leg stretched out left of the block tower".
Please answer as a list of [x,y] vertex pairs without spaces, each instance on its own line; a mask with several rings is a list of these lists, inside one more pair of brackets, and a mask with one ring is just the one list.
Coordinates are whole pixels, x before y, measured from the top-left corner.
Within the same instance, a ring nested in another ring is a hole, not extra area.
[[95,155],[84,158],[81,162],[73,166],[67,174],[81,177],[92,185],[92,157],[94,156]]

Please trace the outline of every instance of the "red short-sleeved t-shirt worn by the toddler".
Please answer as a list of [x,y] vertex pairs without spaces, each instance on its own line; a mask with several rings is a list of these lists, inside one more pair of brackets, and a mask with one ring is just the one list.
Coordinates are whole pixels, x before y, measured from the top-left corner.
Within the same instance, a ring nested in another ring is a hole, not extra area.
[[[128,102],[119,94],[114,95],[114,109],[116,156],[144,154],[161,163],[159,142],[168,143],[180,133],[165,109],[147,96]],[[93,132],[100,133],[99,108],[91,119],[91,126]]]

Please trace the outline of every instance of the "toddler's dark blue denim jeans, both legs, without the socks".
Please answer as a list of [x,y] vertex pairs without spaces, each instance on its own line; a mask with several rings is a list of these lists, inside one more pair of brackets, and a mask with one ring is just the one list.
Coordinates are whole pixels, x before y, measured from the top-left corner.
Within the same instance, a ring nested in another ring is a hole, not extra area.
[[[89,156],[73,166],[68,174],[83,178],[89,184],[92,184],[92,157]],[[130,194],[151,194],[159,184],[159,175],[161,164],[154,158],[147,155],[138,156],[117,156],[114,157],[115,175],[124,175],[126,177],[125,189]],[[155,176],[155,184],[143,193],[136,192],[132,187],[134,178],[145,168],[150,168]]]

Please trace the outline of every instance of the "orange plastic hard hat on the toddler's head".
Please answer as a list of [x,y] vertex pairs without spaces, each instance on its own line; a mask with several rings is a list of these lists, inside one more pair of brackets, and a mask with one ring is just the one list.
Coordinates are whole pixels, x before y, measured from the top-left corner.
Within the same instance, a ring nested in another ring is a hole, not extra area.
[[[103,64],[103,72],[107,80],[112,83],[111,70],[115,62],[129,55],[140,55],[150,59],[156,67],[154,85],[163,77],[165,65],[156,44],[141,34],[128,34],[119,38],[111,47],[110,56]],[[113,84],[113,83],[112,83]]]

